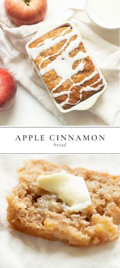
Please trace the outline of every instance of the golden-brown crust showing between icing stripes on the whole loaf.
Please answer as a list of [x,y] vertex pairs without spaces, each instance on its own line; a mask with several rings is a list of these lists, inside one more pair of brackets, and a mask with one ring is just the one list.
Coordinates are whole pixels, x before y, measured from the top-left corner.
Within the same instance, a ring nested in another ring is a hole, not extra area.
[[[42,37],[38,38],[36,41],[32,42],[29,45],[29,49],[36,48],[40,43],[41,44],[42,44],[42,42],[44,43],[44,41],[46,39],[50,39],[50,38],[53,38],[53,37],[56,38],[56,36],[58,36],[58,34],[61,34],[63,31],[66,31],[66,33],[64,34],[64,36],[66,36],[66,34],[68,34],[71,31],[73,31],[73,29],[71,27],[69,27],[69,28],[70,29],[68,29],[68,27],[65,26],[65,27],[59,27],[59,28],[57,28],[55,30],[50,31],[49,33],[47,33],[47,34],[43,35]],[[49,49],[45,49],[44,51],[42,51],[42,53],[40,53],[40,55],[37,56],[34,59],[34,62],[36,64],[39,72],[42,69],[44,69],[47,65],[49,65],[51,62],[53,62],[59,55],[62,55],[62,53],[65,52],[65,50],[67,49],[67,47],[70,46],[70,43],[72,41],[75,41],[77,37],[78,37],[78,35],[75,33],[70,38],[70,40],[67,43],[66,47],[62,51],[61,51],[61,49],[64,46],[64,44],[66,43],[66,39],[62,40],[62,41],[59,41],[53,47],[50,47]],[[44,44],[42,44],[41,46],[44,46]],[[79,52],[86,53],[86,50],[84,48],[84,45],[83,45],[82,41],[79,43],[79,46],[77,48],[75,48],[73,51],[71,51],[69,53],[69,56],[71,58],[73,58]],[[31,53],[31,50],[30,50],[30,53]],[[56,53],[57,53],[57,55],[53,56]],[[41,64],[41,61],[42,61],[42,64]],[[80,62],[82,62],[82,59],[76,60],[74,62],[74,64],[73,64],[72,68],[75,70],[78,67]],[[54,94],[56,94],[56,93],[59,94],[61,92],[70,91],[70,88],[71,88],[71,86],[73,84],[81,82],[86,77],[89,77],[94,73],[96,68],[95,68],[95,65],[93,63],[93,60],[88,55],[86,55],[86,57],[83,59],[83,63],[85,63],[84,69],[82,71],[78,71],[75,75],[73,75],[71,77],[72,81],[70,79],[67,79],[66,81],[64,81],[64,83],[62,85],[60,85],[58,88],[56,88],[56,90],[53,92]],[[62,77],[59,77],[57,75],[57,73],[53,69],[49,70],[46,74],[42,75],[42,77],[43,77],[43,80],[44,80],[45,84],[48,87],[48,90],[51,93],[53,91],[53,88],[56,87],[58,85],[58,83],[62,80]],[[82,96],[80,97],[80,90],[83,89],[83,87],[86,88],[87,86],[92,86],[96,90],[96,88],[100,84],[101,84],[101,86],[97,91],[94,91],[94,90],[83,91]],[[62,104],[62,103],[65,102],[65,104],[63,105],[63,109],[66,110],[66,109],[69,109],[69,108],[73,107],[74,105],[78,104],[79,102],[84,101],[85,99],[91,97],[92,95],[96,94],[97,92],[102,91],[103,88],[104,88],[103,79],[100,79],[100,75],[97,73],[92,79],[89,79],[88,81],[85,81],[83,84],[81,84],[81,85],[73,85],[73,87],[71,89],[70,99],[69,99],[68,103],[66,103],[66,100],[68,98],[67,94],[60,95],[60,96],[58,96],[56,98],[54,97],[54,100],[58,104]],[[52,96],[55,96],[55,95],[52,94]]]

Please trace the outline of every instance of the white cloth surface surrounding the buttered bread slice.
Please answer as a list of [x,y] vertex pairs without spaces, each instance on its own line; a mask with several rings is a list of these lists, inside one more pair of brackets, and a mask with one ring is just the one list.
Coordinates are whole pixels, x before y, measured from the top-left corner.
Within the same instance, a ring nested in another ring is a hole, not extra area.
[[[41,155],[32,155],[32,159]],[[47,161],[120,174],[119,155],[42,155]],[[1,268],[118,268],[120,238],[86,248],[19,233],[8,227],[6,196],[18,184],[17,168],[28,155],[0,156],[0,256]]]

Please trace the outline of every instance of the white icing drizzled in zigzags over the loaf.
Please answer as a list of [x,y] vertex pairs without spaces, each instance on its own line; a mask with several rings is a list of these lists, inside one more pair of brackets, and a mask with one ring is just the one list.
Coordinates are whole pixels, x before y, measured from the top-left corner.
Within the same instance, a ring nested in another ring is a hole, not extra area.
[[[87,53],[84,53],[82,51],[78,52],[77,55],[75,55],[74,57],[70,57],[69,54],[74,51],[75,49],[77,49],[79,47],[79,44],[81,42],[81,38],[80,36],[78,36],[77,31],[75,29],[72,29],[71,32],[68,32],[68,30],[70,30],[71,27],[67,27],[66,30],[62,31],[61,33],[57,34],[56,36],[52,37],[52,38],[48,38],[45,39],[44,42],[39,43],[35,48],[31,49],[31,56],[32,58],[35,60],[38,56],[40,56],[40,54],[47,50],[52,48],[55,44],[57,44],[58,42],[61,41],[65,41],[64,45],[62,46],[62,48],[55,54],[53,55],[48,55],[47,57],[43,58],[39,64],[39,69],[40,69],[40,74],[42,76],[44,76],[45,74],[47,74],[49,71],[54,70],[57,74],[58,77],[61,77],[62,80],[59,81],[59,83],[54,86],[54,88],[51,91],[52,97],[53,98],[57,98],[59,96],[63,96],[63,95],[67,95],[67,99],[66,101],[62,102],[61,105],[62,107],[66,104],[70,104],[70,105],[76,105],[78,104],[81,99],[82,99],[82,92],[89,92],[89,91],[99,91],[100,88],[102,86],[104,86],[106,84],[105,81],[103,81],[103,83],[101,83],[100,85],[98,85],[97,87],[93,87],[93,85],[98,84],[102,79],[103,76],[100,76],[100,78],[94,82],[92,85],[89,86],[83,86],[81,87],[81,85],[92,79],[93,77],[95,77],[98,74],[98,71],[95,69],[95,71],[85,77],[82,81],[78,82],[78,83],[74,83],[72,80],[72,76],[76,75],[78,72],[82,72],[84,70],[84,66],[85,66],[85,58],[88,56]],[[68,32],[68,33],[67,33]],[[73,37],[74,35],[77,35],[77,38],[73,41],[70,42],[69,46],[67,47],[68,42],[70,41],[71,37]],[[65,50],[65,51],[64,51]],[[62,53],[61,53],[62,52]],[[59,55],[59,53],[61,53],[61,55]],[[45,68],[41,68],[42,63],[49,59],[50,57],[55,57],[54,60],[52,60],[52,62],[48,63],[48,65]],[[81,61],[76,69],[73,69],[73,64],[76,61]],[[69,88],[68,91],[62,91],[59,93],[54,93],[56,91],[56,89],[61,86],[64,82],[66,82],[67,80],[70,80],[72,83],[72,86]],[[76,103],[69,103],[70,101],[70,94],[72,93],[72,88],[74,86],[79,86],[80,90],[80,100]]]

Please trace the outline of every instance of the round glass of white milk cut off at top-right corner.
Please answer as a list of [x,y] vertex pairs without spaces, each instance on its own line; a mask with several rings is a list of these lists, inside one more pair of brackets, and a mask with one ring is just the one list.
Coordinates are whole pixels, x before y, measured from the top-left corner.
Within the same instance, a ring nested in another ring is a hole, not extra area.
[[120,0],[85,0],[87,15],[99,27],[120,27]]

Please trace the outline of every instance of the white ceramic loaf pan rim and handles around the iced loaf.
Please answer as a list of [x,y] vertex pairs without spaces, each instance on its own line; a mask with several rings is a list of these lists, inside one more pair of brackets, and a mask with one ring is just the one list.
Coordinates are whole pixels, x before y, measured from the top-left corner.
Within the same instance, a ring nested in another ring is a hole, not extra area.
[[[79,102],[78,104],[76,104],[75,106],[71,107],[70,109],[67,109],[67,110],[64,110],[61,105],[57,104],[57,102],[54,100],[54,98],[52,97],[52,94],[50,93],[47,85],[45,84],[44,80],[43,80],[43,77],[41,76],[36,64],[34,63],[34,60],[32,59],[31,57],[31,49],[29,49],[29,45],[34,42],[35,40],[37,40],[39,37],[41,37],[42,35],[58,28],[58,27],[63,27],[63,26],[70,26],[71,28],[75,29],[77,31],[77,34],[78,36],[80,36],[81,38],[81,35],[80,33],[78,32],[78,30],[76,29],[76,27],[74,26],[73,23],[71,23],[70,21],[65,21],[63,24],[57,24],[56,27],[54,27],[54,25],[46,25],[46,27],[42,28],[41,30],[39,30],[36,35],[34,36],[34,38],[32,38],[29,42],[27,42],[26,44],[26,51],[28,53],[28,56],[29,58],[32,60],[34,66],[35,66],[35,69],[38,73],[38,75],[40,76],[41,80],[43,81],[44,85],[45,85],[45,88],[46,90],[48,91],[50,97],[52,98],[54,104],[56,105],[56,107],[58,108],[59,111],[61,111],[61,113],[69,113],[70,111],[73,111],[73,110],[87,110],[89,108],[91,108],[95,103],[96,101],[98,100],[98,98],[100,97],[101,94],[103,94],[106,89],[107,89],[107,83],[104,85],[104,88],[102,91],[100,92],[97,92],[95,93],[94,95],[92,95],[91,97],[88,97],[86,100],[84,101],[81,101]],[[82,38],[81,38],[82,40]],[[83,42],[83,40],[82,40]],[[84,44],[84,42],[83,42]],[[99,73],[99,75],[102,75],[100,69],[98,68],[97,64],[95,63],[95,60],[93,59],[93,57],[90,55],[88,49],[84,46],[85,50],[86,50],[86,53],[91,57],[91,59],[93,60],[93,63],[94,65],[96,66],[96,69]],[[103,82],[105,82],[105,78],[103,78]]]

